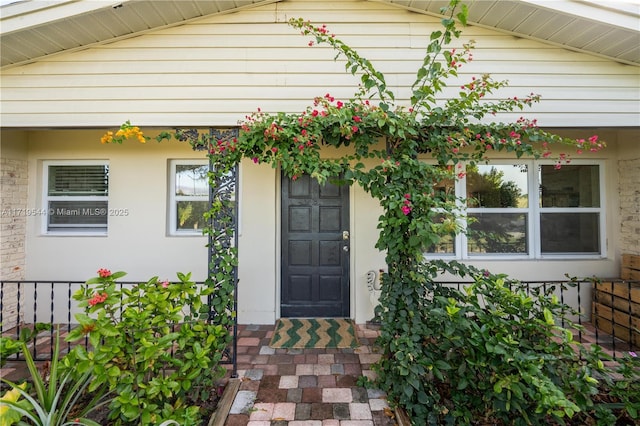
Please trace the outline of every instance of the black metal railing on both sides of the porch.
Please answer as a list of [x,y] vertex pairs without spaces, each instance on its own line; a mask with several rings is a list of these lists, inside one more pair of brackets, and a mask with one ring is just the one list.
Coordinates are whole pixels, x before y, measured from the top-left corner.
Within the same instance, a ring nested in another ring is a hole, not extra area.
[[[0,281],[0,324],[2,335],[17,338],[24,328],[37,323],[47,323],[49,330],[42,332],[31,349],[37,360],[50,359],[53,353],[54,331],[59,329],[64,337],[77,327],[74,314],[81,312],[73,300],[73,294],[84,284],[81,281]],[[121,286],[133,282],[119,283]],[[202,284],[202,283],[200,283]],[[468,282],[442,283],[462,289]],[[579,281],[529,281],[520,284],[527,292],[554,294],[560,303],[577,314],[567,313],[567,318],[580,326],[576,338],[585,343],[595,343],[615,357],[624,351],[640,349],[640,282],[608,280],[605,282]],[[565,324],[561,324],[565,326]],[[234,341],[223,363],[236,364],[236,327],[231,330]],[[64,342],[61,351],[73,344]],[[88,344],[80,342],[80,344]],[[18,359],[13,355],[12,359]],[[235,367],[234,367],[235,370]]]

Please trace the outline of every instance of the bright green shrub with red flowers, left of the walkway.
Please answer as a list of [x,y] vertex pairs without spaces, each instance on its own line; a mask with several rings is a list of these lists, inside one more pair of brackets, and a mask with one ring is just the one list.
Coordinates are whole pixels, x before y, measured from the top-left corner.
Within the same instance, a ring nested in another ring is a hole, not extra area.
[[70,367],[93,371],[90,390],[106,385],[115,397],[113,424],[199,424],[200,401],[210,398],[230,335],[208,321],[205,298],[213,292],[190,274],[169,283],[157,277],[119,288],[124,272],[101,269],[75,295],[84,314],[68,340],[88,336],[92,349],[76,347]]

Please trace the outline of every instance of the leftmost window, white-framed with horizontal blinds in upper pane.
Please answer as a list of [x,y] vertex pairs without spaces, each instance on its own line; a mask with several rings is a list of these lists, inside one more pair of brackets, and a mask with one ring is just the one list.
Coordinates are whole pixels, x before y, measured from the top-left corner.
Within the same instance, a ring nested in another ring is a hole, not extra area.
[[45,161],[43,223],[47,234],[106,234],[109,164],[106,161]]

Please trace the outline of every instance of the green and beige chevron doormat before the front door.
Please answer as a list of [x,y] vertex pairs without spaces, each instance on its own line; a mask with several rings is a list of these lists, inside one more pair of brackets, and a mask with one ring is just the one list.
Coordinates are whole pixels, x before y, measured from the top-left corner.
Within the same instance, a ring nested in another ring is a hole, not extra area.
[[292,319],[276,323],[272,348],[355,348],[359,346],[352,320],[343,318]]

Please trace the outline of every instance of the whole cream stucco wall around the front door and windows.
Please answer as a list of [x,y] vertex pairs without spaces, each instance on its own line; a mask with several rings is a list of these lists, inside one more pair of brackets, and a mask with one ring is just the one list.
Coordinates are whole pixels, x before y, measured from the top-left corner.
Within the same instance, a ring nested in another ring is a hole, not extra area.
[[[562,260],[471,260],[469,263],[522,280],[560,280],[565,273],[586,277],[618,275],[620,214],[618,164],[626,159],[627,145],[636,133],[607,129],[567,130],[560,133],[584,137],[594,133],[609,147],[583,158],[603,161],[606,174],[605,214],[607,255],[602,259]],[[180,142],[129,141],[124,145],[102,145],[102,131],[58,130],[27,132],[29,175],[28,206],[42,203],[42,162],[56,159],[103,159],[110,165],[112,208],[126,208],[125,217],[109,218],[106,236],[43,235],[39,217],[26,224],[25,279],[85,280],[98,268],[129,272],[127,279],[146,280],[158,275],[172,279],[175,273],[192,272],[204,280],[207,252],[204,237],[174,237],[167,232],[168,162],[199,159],[201,153]],[[273,323],[279,317],[280,280],[280,188],[279,172],[269,165],[244,161],[240,173],[240,269],[239,321]],[[361,188],[350,189],[351,313],[359,323],[373,316],[366,287],[366,273],[385,268],[384,254],[374,246],[378,203]],[[584,299],[583,299],[584,302]]]

